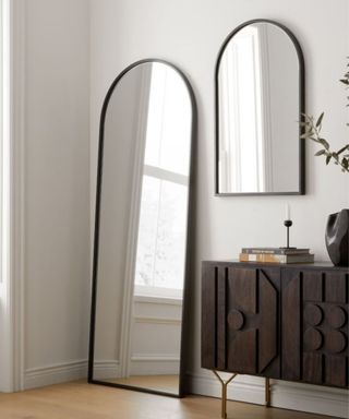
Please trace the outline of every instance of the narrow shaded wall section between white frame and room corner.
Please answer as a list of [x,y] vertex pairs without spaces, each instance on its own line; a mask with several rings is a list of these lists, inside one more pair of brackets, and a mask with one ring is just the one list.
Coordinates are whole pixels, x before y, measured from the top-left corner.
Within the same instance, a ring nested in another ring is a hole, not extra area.
[[89,13],[22,1],[24,387],[86,373],[89,321]]

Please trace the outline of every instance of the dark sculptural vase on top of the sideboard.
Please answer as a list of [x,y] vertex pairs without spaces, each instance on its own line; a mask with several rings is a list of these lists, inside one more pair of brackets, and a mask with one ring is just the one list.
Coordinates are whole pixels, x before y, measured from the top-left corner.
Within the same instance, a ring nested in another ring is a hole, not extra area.
[[328,216],[326,248],[335,266],[349,266],[349,210]]

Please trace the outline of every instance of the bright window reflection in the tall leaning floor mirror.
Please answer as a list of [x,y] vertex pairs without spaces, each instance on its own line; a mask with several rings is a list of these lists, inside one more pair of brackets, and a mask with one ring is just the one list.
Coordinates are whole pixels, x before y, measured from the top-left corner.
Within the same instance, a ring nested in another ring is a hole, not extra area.
[[135,295],[182,298],[189,107],[190,98],[178,74],[164,65],[154,67],[147,109]]

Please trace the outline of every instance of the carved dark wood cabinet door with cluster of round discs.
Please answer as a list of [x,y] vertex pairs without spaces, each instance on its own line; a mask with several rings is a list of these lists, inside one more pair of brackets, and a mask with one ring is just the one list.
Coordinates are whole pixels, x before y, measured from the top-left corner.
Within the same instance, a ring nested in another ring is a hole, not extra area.
[[285,380],[348,386],[348,275],[282,270]]

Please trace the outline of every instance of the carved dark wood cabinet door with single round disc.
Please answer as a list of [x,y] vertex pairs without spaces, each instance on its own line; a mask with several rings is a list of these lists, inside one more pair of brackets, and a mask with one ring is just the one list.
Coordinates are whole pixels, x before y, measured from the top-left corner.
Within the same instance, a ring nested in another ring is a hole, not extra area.
[[279,268],[208,265],[202,284],[202,366],[278,379]]

